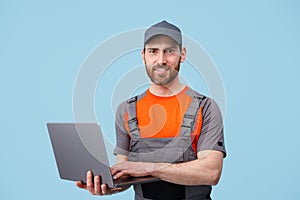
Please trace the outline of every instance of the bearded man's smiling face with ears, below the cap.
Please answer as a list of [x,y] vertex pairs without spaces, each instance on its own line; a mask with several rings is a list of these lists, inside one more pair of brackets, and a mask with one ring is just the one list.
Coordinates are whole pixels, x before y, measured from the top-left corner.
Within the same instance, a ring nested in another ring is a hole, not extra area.
[[177,76],[180,63],[185,60],[185,49],[171,38],[163,35],[155,36],[146,45],[142,52],[146,71],[151,81],[165,86]]

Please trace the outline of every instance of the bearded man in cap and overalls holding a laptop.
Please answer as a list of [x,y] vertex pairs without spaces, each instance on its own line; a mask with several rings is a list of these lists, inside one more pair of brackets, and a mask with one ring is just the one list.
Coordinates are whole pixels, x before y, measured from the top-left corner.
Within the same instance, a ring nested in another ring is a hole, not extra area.
[[[143,94],[123,102],[116,114],[117,164],[122,176],[159,177],[135,185],[135,199],[211,199],[211,186],[220,179],[226,156],[223,123],[217,104],[179,81],[186,58],[178,27],[159,22],[145,32],[142,59],[151,80]],[[111,189],[99,176],[87,173],[77,186],[94,195]]]

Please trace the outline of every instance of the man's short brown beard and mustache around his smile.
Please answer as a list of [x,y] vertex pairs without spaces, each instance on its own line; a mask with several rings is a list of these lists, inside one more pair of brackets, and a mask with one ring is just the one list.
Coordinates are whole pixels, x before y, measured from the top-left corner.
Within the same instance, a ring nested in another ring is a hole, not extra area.
[[[180,62],[178,62],[178,64],[174,68],[168,65],[149,66],[146,64],[146,71],[150,80],[153,83],[160,86],[165,86],[168,83],[172,82],[178,75],[179,70],[180,70]],[[163,71],[163,72],[158,72],[158,71]]]

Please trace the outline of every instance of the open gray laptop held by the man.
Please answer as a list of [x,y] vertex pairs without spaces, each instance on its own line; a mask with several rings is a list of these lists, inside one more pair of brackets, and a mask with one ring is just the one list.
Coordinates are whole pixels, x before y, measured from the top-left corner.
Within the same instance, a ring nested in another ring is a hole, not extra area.
[[61,179],[86,182],[86,173],[91,170],[110,188],[160,180],[153,176],[114,180],[97,123],[47,123],[47,128]]

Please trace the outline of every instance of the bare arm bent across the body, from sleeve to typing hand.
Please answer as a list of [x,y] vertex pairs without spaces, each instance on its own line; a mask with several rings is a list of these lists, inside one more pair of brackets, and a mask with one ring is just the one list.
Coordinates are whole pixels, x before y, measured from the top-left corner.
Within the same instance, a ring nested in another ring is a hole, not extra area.
[[222,172],[223,153],[201,151],[197,156],[196,160],[179,164],[123,162],[114,165],[112,173],[115,178],[152,175],[181,185],[216,185]]

